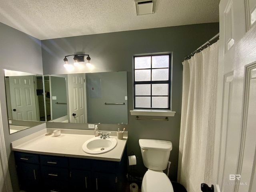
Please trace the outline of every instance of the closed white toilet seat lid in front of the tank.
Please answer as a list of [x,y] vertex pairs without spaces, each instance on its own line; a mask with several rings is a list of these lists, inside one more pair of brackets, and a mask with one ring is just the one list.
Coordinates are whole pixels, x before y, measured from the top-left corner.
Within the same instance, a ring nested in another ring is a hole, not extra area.
[[174,192],[172,183],[162,171],[148,170],[142,179],[142,192]]

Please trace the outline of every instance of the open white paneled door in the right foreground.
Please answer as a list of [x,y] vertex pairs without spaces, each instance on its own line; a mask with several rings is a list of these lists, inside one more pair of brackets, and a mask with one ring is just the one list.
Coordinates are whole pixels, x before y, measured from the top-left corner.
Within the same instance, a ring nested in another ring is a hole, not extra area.
[[256,190],[256,0],[221,0],[215,182]]

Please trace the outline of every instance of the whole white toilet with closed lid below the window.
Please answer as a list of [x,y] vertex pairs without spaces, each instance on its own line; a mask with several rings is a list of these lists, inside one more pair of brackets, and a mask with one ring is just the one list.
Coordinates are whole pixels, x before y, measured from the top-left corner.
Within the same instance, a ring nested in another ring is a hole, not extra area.
[[148,168],[142,179],[142,192],[174,192],[172,183],[163,172],[167,168],[172,142],[139,139],[143,163]]

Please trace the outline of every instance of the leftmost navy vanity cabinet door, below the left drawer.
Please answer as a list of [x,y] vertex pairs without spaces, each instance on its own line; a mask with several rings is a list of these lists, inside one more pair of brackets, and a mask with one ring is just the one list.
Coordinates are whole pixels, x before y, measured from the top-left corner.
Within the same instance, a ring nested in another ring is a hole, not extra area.
[[20,189],[28,192],[40,191],[41,174],[39,165],[18,162],[16,167]]

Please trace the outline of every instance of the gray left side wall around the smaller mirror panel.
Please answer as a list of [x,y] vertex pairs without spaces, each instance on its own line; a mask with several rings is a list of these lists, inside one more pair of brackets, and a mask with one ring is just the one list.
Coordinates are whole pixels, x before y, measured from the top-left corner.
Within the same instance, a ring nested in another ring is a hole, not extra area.
[[0,23],[0,102],[4,128],[4,140],[14,192],[18,192],[18,180],[10,142],[45,128],[46,124],[9,134],[4,86],[4,69],[42,74],[40,40]]

